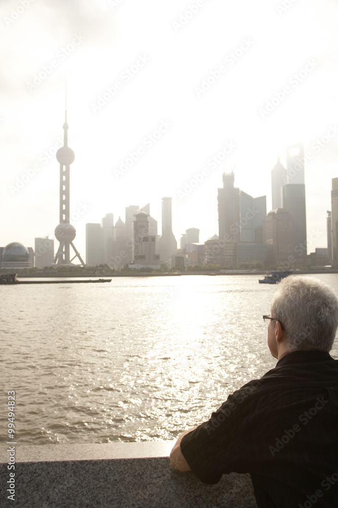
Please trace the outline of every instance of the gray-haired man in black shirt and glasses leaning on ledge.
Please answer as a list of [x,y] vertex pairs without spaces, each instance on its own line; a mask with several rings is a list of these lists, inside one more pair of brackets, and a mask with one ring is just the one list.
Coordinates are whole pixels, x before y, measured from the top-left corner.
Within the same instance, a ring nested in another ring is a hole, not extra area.
[[249,472],[258,508],[338,506],[338,360],[330,355],[338,300],[290,275],[269,315],[274,369],[229,395],[209,421],[178,438],[171,466],[202,482]]

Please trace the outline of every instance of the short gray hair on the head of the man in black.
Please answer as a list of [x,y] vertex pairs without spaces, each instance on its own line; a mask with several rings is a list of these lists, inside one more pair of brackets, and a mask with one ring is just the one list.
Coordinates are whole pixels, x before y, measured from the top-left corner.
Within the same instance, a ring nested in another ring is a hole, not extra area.
[[290,352],[331,351],[338,327],[338,299],[321,280],[299,275],[282,279],[270,315],[283,325]]

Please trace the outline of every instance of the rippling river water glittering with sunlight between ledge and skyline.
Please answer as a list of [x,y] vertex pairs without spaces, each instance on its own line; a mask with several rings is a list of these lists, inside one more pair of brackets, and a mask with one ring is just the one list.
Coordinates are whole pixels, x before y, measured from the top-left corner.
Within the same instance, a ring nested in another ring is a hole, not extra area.
[[[338,295],[338,274],[314,276]],[[18,444],[172,440],[205,421],[276,365],[262,320],[275,287],[258,278],[0,286],[2,442],[9,390]]]

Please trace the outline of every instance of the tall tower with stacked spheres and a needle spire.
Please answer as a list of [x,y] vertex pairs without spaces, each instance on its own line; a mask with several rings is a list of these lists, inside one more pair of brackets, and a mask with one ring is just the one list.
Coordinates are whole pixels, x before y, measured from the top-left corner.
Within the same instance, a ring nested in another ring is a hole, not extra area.
[[[69,166],[74,162],[75,154],[68,146],[68,123],[67,107],[65,111],[65,122],[63,124],[64,141],[63,146],[56,152],[57,161],[60,163],[60,224],[55,228],[55,238],[60,242],[58,251],[54,258],[57,265],[72,265],[75,258],[79,258],[80,264],[85,266],[79,252],[73,244],[76,237],[76,229],[69,223]],[[70,246],[75,255],[70,259]]]

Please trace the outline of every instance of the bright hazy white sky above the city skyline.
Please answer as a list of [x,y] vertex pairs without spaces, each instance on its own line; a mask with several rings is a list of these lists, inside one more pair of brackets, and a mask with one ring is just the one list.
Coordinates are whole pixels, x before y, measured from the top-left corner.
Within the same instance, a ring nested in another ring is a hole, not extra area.
[[177,241],[191,227],[205,241],[218,233],[224,171],[266,194],[269,211],[271,169],[298,141],[308,153],[308,252],[326,247],[337,19],[333,0],[2,0],[0,245],[54,236],[67,76],[71,222],[83,257],[85,224],[109,212],[124,220],[127,205],[150,202],[161,232],[164,196]]

